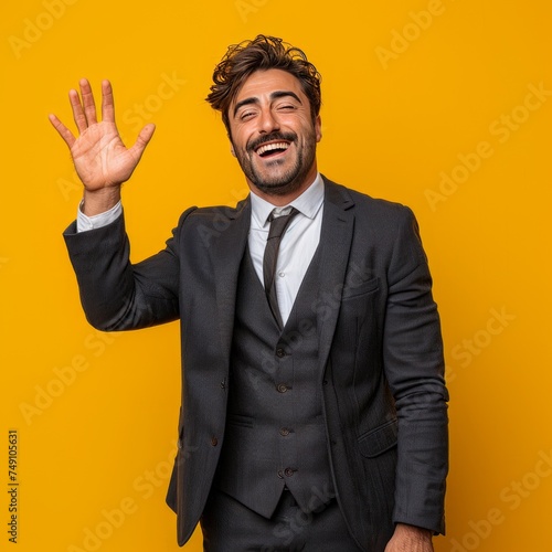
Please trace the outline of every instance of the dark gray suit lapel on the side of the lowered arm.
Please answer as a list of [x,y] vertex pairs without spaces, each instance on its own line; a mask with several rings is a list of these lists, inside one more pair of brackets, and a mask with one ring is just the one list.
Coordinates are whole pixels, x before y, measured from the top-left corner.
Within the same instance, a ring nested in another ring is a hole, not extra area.
[[349,193],[326,178],[323,180],[326,192],[320,233],[320,284],[314,306],[318,315],[319,360],[322,374],[338,321],[354,229],[354,214],[351,209],[354,202]]

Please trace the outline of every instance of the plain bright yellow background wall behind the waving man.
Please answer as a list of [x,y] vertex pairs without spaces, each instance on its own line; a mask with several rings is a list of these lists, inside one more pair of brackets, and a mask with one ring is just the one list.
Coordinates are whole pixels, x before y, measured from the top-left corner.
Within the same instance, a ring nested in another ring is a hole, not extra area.
[[321,171],[418,217],[452,394],[448,533],[436,550],[548,549],[551,14],[527,0],[4,2],[0,549],[13,546],[11,428],[13,550],[179,550],[164,506],[178,325],[102,336],[85,321],[61,237],[81,191],[47,114],[72,123],[67,91],[108,77],[128,141],[157,124],[124,191],[140,259],[185,206],[244,195],[203,98],[226,45],[259,32],[301,46],[323,76]]

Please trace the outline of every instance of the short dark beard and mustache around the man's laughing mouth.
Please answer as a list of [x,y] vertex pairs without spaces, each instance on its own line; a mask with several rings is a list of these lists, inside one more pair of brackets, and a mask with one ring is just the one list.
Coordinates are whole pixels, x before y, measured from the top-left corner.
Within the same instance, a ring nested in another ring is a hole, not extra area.
[[[290,162],[288,159],[267,160],[263,167],[256,163],[255,150],[268,141],[282,140],[295,146],[297,152]],[[300,189],[310,172],[316,158],[316,136],[314,128],[299,144],[295,132],[270,132],[252,141],[246,150],[236,150],[236,158],[247,180],[268,195],[286,195]],[[287,168],[280,166],[289,164]]]

